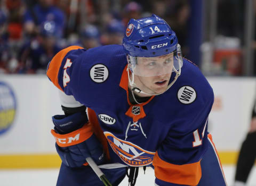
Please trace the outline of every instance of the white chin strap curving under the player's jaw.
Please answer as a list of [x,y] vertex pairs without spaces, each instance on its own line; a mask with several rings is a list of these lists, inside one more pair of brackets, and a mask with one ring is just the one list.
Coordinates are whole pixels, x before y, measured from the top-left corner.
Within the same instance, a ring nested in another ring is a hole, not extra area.
[[[131,88],[132,88],[132,94],[133,94],[133,91],[135,91],[135,92],[137,92],[137,93],[146,94],[146,95],[149,95],[149,96],[156,96],[156,95],[161,95],[161,94],[163,94],[165,91],[167,91],[169,88],[171,88],[171,86],[174,84],[174,82],[178,79],[178,77],[179,77],[180,74],[181,74],[181,63],[179,63],[179,71],[177,71],[177,70],[174,68],[174,72],[176,73],[176,75],[175,75],[175,77],[174,77],[174,80],[167,86],[167,89],[166,89],[164,92],[159,93],[159,94],[148,94],[148,93],[142,91],[141,89],[139,89],[139,88],[137,87],[137,85],[135,84],[135,82],[134,82],[134,73],[132,72],[131,75],[130,75],[130,71],[129,71],[129,67],[128,67],[128,66],[127,66],[126,71],[127,71],[127,73],[128,73],[129,84],[130,84],[130,86],[131,86]],[[134,95],[132,95],[132,96],[133,96],[135,102],[138,103],[137,100],[135,99]],[[140,104],[140,103],[138,103],[138,104]]]

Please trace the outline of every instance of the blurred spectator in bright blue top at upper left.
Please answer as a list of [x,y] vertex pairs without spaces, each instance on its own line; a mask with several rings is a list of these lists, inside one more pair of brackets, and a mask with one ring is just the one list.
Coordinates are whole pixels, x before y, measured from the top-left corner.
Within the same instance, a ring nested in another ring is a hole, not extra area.
[[39,32],[39,27],[45,21],[53,21],[59,28],[58,36],[62,37],[65,29],[65,14],[53,5],[53,0],[39,0],[33,7],[28,6],[24,15],[25,32],[31,36]]

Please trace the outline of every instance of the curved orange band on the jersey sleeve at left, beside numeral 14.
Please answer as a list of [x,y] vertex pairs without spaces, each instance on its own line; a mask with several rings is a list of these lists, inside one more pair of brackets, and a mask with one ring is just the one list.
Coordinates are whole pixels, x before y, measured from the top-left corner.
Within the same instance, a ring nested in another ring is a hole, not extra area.
[[51,60],[48,70],[47,70],[47,77],[50,78],[50,80],[53,82],[53,84],[58,87],[61,91],[63,91],[59,85],[59,80],[58,80],[58,74],[59,74],[59,69],[62,63],[63,58],[66,56],[66,54],[70,50],[75,50],[75,49],[83,49],[83,47],[80,46],[70,46],[65,49],[60,50]]

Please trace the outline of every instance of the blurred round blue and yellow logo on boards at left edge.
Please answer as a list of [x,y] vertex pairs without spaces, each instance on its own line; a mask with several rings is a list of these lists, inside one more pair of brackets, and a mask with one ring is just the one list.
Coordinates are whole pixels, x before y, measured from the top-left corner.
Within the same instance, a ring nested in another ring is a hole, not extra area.
[[11,87],[0,81],[0,134],[7,131],[14,121],[16,99]]

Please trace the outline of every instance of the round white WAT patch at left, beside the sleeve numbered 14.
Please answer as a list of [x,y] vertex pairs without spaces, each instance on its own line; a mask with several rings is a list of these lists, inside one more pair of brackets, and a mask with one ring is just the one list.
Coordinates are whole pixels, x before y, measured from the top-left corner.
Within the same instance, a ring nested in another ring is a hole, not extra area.
[[103,64],[97,64],[91,67],[90,77],[94,82],[102,83],[108,79],[108,68]]

